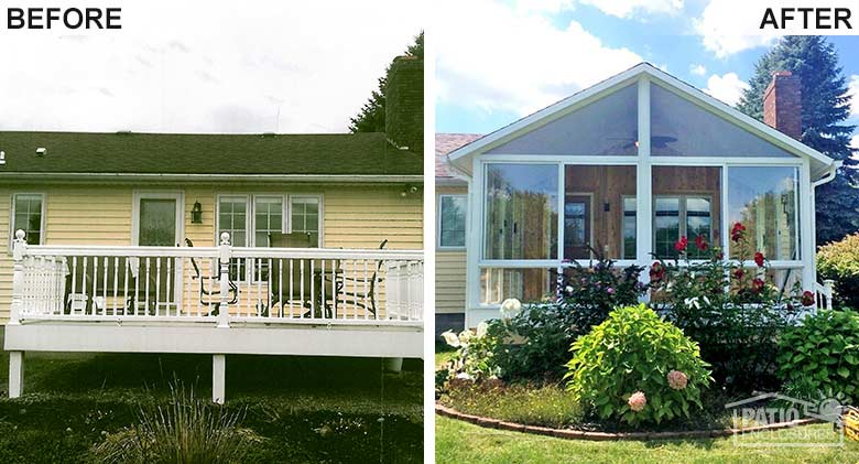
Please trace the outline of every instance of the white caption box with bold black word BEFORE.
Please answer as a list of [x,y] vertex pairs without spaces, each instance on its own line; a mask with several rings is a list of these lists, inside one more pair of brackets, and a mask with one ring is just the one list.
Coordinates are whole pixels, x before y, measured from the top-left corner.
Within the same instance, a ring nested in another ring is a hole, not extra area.
[[94,31],[122,29],[119,7],[18,7],[0,6],[3,28],[20,30]]

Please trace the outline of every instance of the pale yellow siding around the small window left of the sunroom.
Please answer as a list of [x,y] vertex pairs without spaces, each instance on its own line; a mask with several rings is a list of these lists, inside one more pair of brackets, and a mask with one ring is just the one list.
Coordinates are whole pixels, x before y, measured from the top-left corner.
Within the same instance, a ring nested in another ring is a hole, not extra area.
[[[466,186],[436,186],[437,195],[465,195]],[[436,213],[438,204],[436,204]],[[436,214],[436,216],[438,216]],[[436,220],[438,220],[436,218]],[[435,312],[464,313],[466,295],[466,252],[465,250],[436,249],[435,253]]]

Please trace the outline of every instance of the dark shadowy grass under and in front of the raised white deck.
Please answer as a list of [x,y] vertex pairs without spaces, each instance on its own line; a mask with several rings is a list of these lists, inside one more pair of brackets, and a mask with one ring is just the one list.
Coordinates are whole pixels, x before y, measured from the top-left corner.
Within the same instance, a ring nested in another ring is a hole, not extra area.
[[[383,462],[423,457],[422,364],[382,374],[381,359],[227,356],[227,407],[265,440],[252,462]],[[7,391],[9,356],[0,356]],[[81,462],[106,433],[164,403],[171,384],[211,397],[211,356],[28,354],[24,396],[0,400],[0,462]]]

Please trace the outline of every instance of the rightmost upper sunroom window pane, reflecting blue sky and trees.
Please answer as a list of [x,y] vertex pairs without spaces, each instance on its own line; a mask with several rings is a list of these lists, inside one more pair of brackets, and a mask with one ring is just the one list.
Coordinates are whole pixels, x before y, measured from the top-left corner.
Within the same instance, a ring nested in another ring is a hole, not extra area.
[[[800,171],[795,166],[728,168],[728,218],[746,227],[750,252],[771,260],[797,260]],[[739,256],[731,246],[731,258]]]

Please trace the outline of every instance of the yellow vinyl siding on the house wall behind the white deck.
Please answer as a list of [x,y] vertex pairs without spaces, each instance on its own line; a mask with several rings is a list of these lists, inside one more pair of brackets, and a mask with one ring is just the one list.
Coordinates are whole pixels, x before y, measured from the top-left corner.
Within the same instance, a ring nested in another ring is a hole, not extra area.
[[[318,194],[323,196],[323,234],[326,248],[378,248],[388,239],[389,249],[423,248],[422,193],[400,196],[403,185],[307,185],[220,186],[110,185],[110,186],[22,186],[0,190],[0,321],[9,317],[12,293],[12,260],[8,250],[11,194],[44,192],[46,202],[46,245],[131,245],[134,191],[184,192],[185,237],[197,247],[216,245],[216,198],[220,194]],[[191,223],[191,209],[199,202],[203,224]],[[178,241],[184,245],[184,238]],[[208,263],[198,262],[204,274]],[[348,268],[348,265],[347,265]],[[189,278],[193,270],[186,266]],[[188,280],[186,280],[187,282]],[[255,290],[255,285],[254,289]],[[196,291],[185,289],[183,300],[196,312]],[[383,289],[380,289],[380,299]],[[112,300],[108,307],[112,309]],[[244,305],[242,305],[244,306]],[[246,312],[247,309],[240,309]]]

